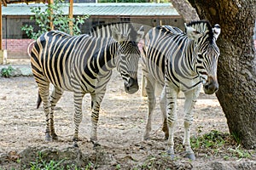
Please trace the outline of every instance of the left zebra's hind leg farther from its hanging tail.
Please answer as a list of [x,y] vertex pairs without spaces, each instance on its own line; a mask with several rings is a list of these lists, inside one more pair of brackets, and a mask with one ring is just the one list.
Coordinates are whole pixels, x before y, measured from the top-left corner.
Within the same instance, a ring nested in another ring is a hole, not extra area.
[[55,126],[54,126],[54,111],[55,111],[55,105],[61,99],[61,95],[63,94],[63,91],[61,88],[55,87],[52,91],[52,94],[50,95],[50,112],[49,112],[49,122],[50,122],[50,134],[52,139],[58,139],[57,134],[55,133]]

